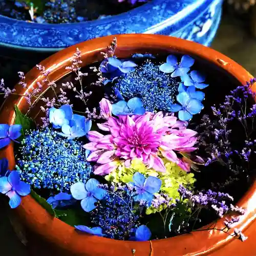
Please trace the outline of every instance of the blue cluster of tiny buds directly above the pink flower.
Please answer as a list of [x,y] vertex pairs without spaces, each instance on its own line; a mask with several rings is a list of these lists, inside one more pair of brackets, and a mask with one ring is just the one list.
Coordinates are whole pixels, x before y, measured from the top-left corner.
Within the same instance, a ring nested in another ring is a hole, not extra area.
[[169,110],[173,103],[179,82],[170,74],[163,73],[159,66],[146,60],[135,71],[123,74],[116,79],[116,89],[126,99],[138,97],[146,111]]

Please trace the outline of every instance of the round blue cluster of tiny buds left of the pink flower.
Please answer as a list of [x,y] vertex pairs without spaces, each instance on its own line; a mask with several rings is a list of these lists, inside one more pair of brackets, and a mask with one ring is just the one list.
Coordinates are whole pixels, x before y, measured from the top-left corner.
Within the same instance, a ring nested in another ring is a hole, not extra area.
[[29,132],[19,155],[20,176],[35,188],[69,191],[72,184],[86,182],[93,170],[80,142],[59,138],[49,128]]

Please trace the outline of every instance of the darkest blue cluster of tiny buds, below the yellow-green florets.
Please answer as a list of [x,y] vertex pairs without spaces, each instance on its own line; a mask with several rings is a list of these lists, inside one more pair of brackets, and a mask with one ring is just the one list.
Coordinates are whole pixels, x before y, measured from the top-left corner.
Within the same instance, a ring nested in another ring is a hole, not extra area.
[[91,221],[101,227],[107,238],[127,240],[134,237],[139,227],[139,215],[130,208],[132,191],[126,186],[111,186],[97,207],[91,212]]

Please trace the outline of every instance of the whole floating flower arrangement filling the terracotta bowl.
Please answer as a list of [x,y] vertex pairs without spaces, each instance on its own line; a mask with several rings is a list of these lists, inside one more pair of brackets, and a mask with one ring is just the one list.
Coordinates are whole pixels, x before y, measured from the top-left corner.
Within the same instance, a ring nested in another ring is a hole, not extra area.
[[[103,60],[86,68],[77,49],[66,68],[73,82],[57,84],[37,66],[52,94],[38,82],[22,95],[28,112],[15,105],[15,124],[0,124],[0,148],[14,143],[16,160],[15,170],[1,160],[0,192],[11,208],[31,194],[77,232],[95,236],[162,239],[224,218],[222,229],[208,229],[245,241],[233,224],[245,213],[235,205],[237,186],[254,175],[256,80],[211,105],[217,89],[193,57],[118,59],[116,47],[114,38]],[[16,93],[3,80],[0,89],[5,97]]]

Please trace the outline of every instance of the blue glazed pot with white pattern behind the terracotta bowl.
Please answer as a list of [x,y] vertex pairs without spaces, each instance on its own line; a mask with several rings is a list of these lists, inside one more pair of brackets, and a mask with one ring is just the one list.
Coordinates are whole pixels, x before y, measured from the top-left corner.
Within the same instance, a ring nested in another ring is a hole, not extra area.
[[222,0],[152,0],[113,17],[76,24],[36,24],[0,16],[0,46],[54,52],[95,37],[152,33],[209,46],[221,18]]

